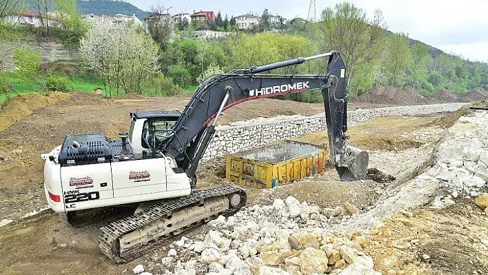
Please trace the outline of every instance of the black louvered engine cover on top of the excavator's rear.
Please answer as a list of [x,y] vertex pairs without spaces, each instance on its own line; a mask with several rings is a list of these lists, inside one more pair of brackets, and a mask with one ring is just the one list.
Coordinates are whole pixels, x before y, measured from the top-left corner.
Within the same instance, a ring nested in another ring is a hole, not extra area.
[[112,147],[103,134],[66,136],[59,152],[61,165],[81,165],[112,161]]

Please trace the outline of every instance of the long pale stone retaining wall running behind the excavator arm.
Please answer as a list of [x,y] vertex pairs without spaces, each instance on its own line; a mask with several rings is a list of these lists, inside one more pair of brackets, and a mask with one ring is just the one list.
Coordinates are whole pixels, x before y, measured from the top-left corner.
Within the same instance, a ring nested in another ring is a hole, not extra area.
[[[414,116],[438,112],[454,112],[467,103],[397,106],[370,110],[349,111],[347,121],[354,125],[378,116]],[[289,139],[302,134],[326,130],[325,114],[315,116],[280,116],[279,118],[254,119],[218,126],[207,147],[203,160],[213,159],[244,150],[263,147],[267,143]]]

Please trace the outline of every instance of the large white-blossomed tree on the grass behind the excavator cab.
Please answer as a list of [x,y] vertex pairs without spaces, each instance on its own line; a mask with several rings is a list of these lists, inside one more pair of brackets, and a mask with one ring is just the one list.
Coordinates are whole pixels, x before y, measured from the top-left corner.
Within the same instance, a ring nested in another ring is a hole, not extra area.
[[116,95],[120,88],[141,94],[143,81],[158,70],[158,49],[142,30],[111,22],[94,23],[80,41],[83,57],[101,76],[110,96],[113,88]]

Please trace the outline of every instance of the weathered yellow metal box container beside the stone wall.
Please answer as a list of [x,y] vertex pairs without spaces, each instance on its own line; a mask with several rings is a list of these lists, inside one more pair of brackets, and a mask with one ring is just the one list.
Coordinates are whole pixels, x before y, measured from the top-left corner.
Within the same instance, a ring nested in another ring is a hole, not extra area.
[[272,188],[320,174],[325,165],[322,147],[296,141],[227,155],[227,181],[256,188]]

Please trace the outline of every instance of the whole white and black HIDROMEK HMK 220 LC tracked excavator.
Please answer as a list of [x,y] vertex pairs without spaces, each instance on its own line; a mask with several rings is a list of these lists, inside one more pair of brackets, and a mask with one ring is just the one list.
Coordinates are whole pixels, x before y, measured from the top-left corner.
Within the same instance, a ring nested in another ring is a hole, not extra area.
[[[270,71],[325,58],[325,74],[283,75]],[[223,110],[243,101],[321,90],[330,162],[342,181],[363,179],[367,152],[348,144],[346,68],[336,51],[218,74],[201,84],[183,112],[138,111],[119,139],[104,134],[65,136],[45,159],[44,189],[54,212],[77,223],[92,210],[138,205],[130,216],[101,228],[98,243],[115,263],[152,251],[166,238],[246,202],[241,187],[196,189],[196,169],[212,141]]]

